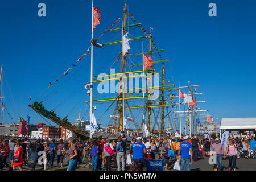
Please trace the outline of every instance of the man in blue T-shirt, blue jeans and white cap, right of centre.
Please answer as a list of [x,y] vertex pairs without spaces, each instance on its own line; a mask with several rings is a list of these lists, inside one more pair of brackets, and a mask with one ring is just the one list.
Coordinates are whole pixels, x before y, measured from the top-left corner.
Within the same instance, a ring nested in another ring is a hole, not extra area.
[[188,138],[189,138],[188,135],[183,137],[184,142],[180,143],[179,154],[178,154],[180,155],[181,153],[180,171],[183,171],[185,164],[187,166],[187,170],[190,171],[190,164],[193,162],[193,151],[192,151],[193,147],[192,147],[192,144],[188,142]]

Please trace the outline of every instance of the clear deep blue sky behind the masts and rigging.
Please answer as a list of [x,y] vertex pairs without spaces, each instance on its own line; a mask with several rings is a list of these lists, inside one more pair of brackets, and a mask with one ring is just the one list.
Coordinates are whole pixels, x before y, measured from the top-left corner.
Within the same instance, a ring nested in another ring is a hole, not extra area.
[[[38,16],[40,2],[47,6],[45,18]],[[211,2],[217,5],[217,17],[208,16]],[[102,10],[101,24],[94,34],[98,37],[122,15],[123,1],[95,0],[94,3]],[[205,94],[199,100],[207,101],[200,107],[208,109],[214,118],[256,117],[254,0],[128,0],[127,5],[129,13],[133,13],[144,28],[154,28],[156,46],[166,49],[163,55],[171,60],[166,64],[168,80],[174,84],[180,81],[181,86],[187,85],[188,80],[191,84],[200,84],[199,92]],[[49,81],[53,82],[55,77],[62,75],[88,48],[91,2],[3,1],[0,3],[0,22],[0,62],[15,101],[13,104],[8,100],[8,92],[5,91],[5,105],[10,108],[15,121],[19,115],[26,119],[28,96],[31,95],[35,101],[46,90]],[[114,40],[111,36],[102,37],[101,43]],[[112,48],[117,50],[114,52],[117,56],[119,48]],[[100,53],[97,51],[96,54]],[[102,52],[108,54],[108,49]],[[114,60],[114,56],[95,57],[94,73],[97,74],[104,70],[108,61]],[[64,81],[72,81],[44,102],[46,108],[53,109],[80,89],[71,100],[58,107],[56,113],[61,118],[65,117],[77,102],[79,104],[69,114],[69,121],[77,118],[79,109],[84,113],[88,108],[84,101],[89,97],[83,84],[89,81],[89,75],[90,56],[84,57],[71,73],[53,86],[55,89]],[[47,91],[44,98],[50,93]],[[98,105],[96,118],[106,107]],[[31,123],[45,123],[31,109],[30,115]],[[107,122],[108,115],[105,119]]]

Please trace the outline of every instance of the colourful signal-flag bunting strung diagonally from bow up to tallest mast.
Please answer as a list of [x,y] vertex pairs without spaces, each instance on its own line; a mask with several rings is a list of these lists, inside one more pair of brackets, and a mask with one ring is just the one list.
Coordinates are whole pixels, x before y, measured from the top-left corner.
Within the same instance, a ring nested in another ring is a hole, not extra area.
[[[98,39],[100,39],[106,32],[108,32],[109,29],[112,28],[112,27],[114,26],[114,24],[117,23],[120,19],[121,19],[121,18],[118,18],[117,20],[115,20],[115,22],[112,23],[112,24],[110,25],[110,27],[109,27],[107,30],[105,30],[105,31],[101,34],[101,36],[98,37]],[[98,40],[98,39],[97,39],[97,40]],[[79,59],[77,59],[75,62],[73,62],[73,63],[71,64],[71,67],[69,67],[69,68],[67,69],[67,71],[65,71],[61,76],[55,78],[55,81],[54,81],[54,82],[49,82],[48,88],[52,88],[53,84],[55,84],[56,82],[59,82],[59,78],[60,78],[60,77],[63,77],[63,76],[68,75],[68,71],[70,71],[70,70],[72,69],[72,67],[76,67],[77,65],[76,65],[75,63],[81,61],[81,60],[82,60],[82,57],[87,56],[87,55],[90,55],[90,48],[91,48],[91,47],[92,47],[92,46],[90,45],[89,48],[85,51],[86,53],[82,54],[82,55],[79,57]]]

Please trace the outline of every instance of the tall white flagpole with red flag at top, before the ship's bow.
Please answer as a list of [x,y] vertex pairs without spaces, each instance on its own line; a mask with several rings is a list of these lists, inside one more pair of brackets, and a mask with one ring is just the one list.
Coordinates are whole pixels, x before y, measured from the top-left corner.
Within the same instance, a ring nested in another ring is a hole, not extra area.
[[[93,0],[92,0],[92,39],[93,39]],[[90,126],[92,126],[92,112],[93,112],[93,44],[90,43]],[[92,133],[90,133],[90,139],[92,139]]]

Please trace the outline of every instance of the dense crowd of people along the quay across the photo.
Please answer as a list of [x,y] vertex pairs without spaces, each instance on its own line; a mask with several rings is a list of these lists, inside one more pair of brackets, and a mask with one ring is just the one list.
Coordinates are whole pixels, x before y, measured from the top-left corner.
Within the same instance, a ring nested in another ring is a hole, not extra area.
[[[188,135],[183,138],[158,139],[142,138],[135,135],[128,146],[125,133],[121,131],[117,140],[110,140],[102,136],[97,140],[69,138],[67,143],[60,139],[57,145],[55,140],[51,140],[51,143],[37,140],[32,170],[35,170],[41,156],[44,156],[45,159],[42,160],[42,170],[54,167],[57,155],[57,166],[63,167],[64,159],[68,159],[68,171],[75,171],[82,163],[83,156],[88,156],[90,159],[92,171],[110,171],[113,168],[117,168],[118,171],[147,170],[146,159],[163,160],[165,171],[168,170],[170,162],[176,161],[180,163],[180,171],[183,171],[184,166],[189,171],[191,164],[196,160],[204,159],[204,156],[213,157],[215,171],[222,170],[222,159],[225,158],[229,160],[229,171],[232,169],[236,171],[236,159],[249,158],[251,150],[255,149],[254,138],[229,138],[226,150],[224,150],[224,146],[218,138],[209,139],[196,136],[189,138]],[[3,141],[0,138],[0,170],[6,166],[9,170],[15,170],[18,167],[22,171],[22,166],[28,164],[29,151],[30,142],[27,139],[11,138],[9,141]]]

